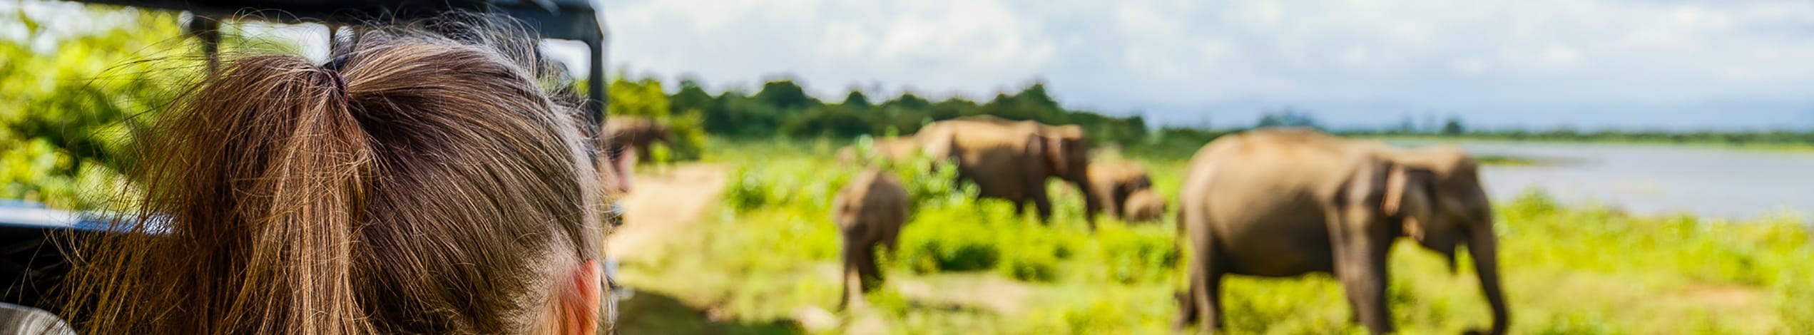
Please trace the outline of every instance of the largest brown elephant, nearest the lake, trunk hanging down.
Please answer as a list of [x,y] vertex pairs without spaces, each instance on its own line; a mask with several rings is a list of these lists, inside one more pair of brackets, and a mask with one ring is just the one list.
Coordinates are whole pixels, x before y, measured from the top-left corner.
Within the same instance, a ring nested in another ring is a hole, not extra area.
[[1261,129],[1210,141],[1179,194],[1181,239],[1192,246],[1190,290],[1175,319],[1221,328],[1221,277],[1333,273],[1359,324],[1393,331],[1386,254],[1409,237],[1449,259],[1468,246],[1506,333],[1493,210],[1478,163],[1457,148],[1400,150],[1306,129]]

